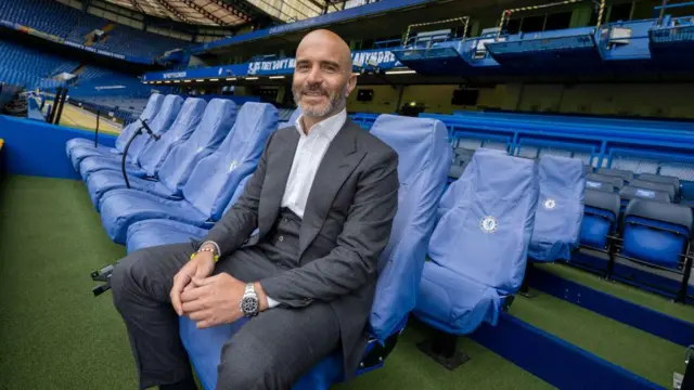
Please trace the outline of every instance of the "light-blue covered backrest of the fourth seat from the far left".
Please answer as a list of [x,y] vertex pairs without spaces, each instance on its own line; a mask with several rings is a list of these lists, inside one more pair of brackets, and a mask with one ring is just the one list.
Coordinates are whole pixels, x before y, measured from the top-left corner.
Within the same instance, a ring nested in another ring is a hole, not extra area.
[[236,104],[230,100],[213,99],[207,103],[203,119],[188,141],[169,152],[157,176],[167,188],[179,193],[195,165],[210,155],[228,136],[236,120]]

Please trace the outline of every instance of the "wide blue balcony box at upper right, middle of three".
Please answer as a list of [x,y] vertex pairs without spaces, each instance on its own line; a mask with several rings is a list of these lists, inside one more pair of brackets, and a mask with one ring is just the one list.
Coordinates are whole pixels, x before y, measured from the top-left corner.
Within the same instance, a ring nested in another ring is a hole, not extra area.
[[601,63],[594,28],[579,27],[541,32],[519,32],[504,41],[487,42],[491,56],[514,69],[555,72],[586,69]]

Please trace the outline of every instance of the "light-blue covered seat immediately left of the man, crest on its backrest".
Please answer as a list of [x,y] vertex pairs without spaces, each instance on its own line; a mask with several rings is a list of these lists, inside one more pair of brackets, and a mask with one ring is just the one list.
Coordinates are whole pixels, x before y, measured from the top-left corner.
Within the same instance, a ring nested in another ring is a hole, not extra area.
[[[183,186],[182,199],[165,199],[127,188],[105,193],[100,202],[100,211],[108,237],[125,244],[128,226],[147,219],[171,219],[196,226],[211,225],[213,221],[219,220],[242,180],[253,173],[266,140],[277,129],[278,113],[274,106],[245,103],[229,136],[217,151],[200,159],[193,168]],[[159,173],[164,179],[164,168]]]

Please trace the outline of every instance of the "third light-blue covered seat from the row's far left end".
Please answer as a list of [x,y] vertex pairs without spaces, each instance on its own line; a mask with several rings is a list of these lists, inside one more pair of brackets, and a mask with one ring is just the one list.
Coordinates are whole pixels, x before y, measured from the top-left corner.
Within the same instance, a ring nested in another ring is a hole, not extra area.
[[[233,103],[230,105],[233,106]],[[156,188],[158,188],[158,182],[156,179],[158,177],[159,169],[165,162],[165,158],[168,157],[169,152],[176,151],[177,147],[183,147],[181,145],[192,136],[193,131],[195,131],[195,129],[201,125],[201,121],[203,121],[203,114],[207,113],[206,122],[217,120],[219,115],[229,114],[223,110],[215,112],[211,109],[215,107],[211,107],[208,112],[205,109],[207,103],[202,99],[189,98],[185,100],[176,121],[171,125],[171,129],[166,132],[159,141],[151,142],[147,148],[143,151],[140,156],[140,161],[142,162],[141,169],[147,178],[141,178],[141,174],[131,176],[130,171],[128,172],[128,182],[130,183],[131,188],[155,192]],[[235,114],[235,108],[233,108],[232,113]],[[231,115],[229,116],[231,117]],[[220,141],[217,145],[221,142],[221,139],[227,134],[227,131],[230,128],[231,123],[219,131],[221,134],[218,138]],[[209,129],[215,128],[210,126]],[[201,134],[205,134],[207,130],[208,127],[206,126],[204,129],[198,131]],[[99,210],[99,200],[104,193],[115,188],[126,187],[125,179],[123,178],[120,170],[104,169],[92,172],[85,179],[85,182],[87,183],[91,202],[97,210]],[[169,194],[176,194],[176,192],[171,191]]]

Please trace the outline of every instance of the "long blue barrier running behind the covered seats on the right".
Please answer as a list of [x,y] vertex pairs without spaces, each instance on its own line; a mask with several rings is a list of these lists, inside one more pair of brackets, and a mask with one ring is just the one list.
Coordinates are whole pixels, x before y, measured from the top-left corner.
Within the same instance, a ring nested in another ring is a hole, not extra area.
[[668,128],[639,128],[522,118],[420,114],[440,119],[453,147],[504,148],[516,156],[544,154],[579,158],[592,167],[634,173],[673,176],[682,181],[683,202],[694,199],[694,133]]

